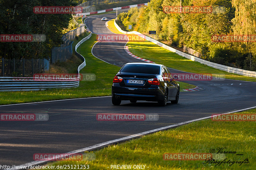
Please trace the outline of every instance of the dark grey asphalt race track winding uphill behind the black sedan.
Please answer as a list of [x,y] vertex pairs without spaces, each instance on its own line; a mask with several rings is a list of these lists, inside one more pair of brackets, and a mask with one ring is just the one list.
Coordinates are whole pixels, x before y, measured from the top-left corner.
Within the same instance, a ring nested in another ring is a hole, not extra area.
[[[111,19],[115,14],[104,16]],[[105,21],[100,20],[102,17],[86,19],[87,26],[93,33],[109,33]],[[118,66],[127,62],[139,62],[140,60],[126,54],[124,45],[125,43],[118,42],[97,43],[92,51],[96,57]],[[48,121],[0,122],[1,164],[21,165],[34,161],[34,153],[66,153],[147,130],[256,105],[255,82],[224,79],[188,83],[204,90],[181,92],[179,104],[168,102],[166,107],[158,107],[156,102],[146,101],[122,101],[120,106],[113,106],[111,97],[1,106],[0,113],[49,115]],[[157,113],[159,120],[99,122],[96,120],[98,113]]]

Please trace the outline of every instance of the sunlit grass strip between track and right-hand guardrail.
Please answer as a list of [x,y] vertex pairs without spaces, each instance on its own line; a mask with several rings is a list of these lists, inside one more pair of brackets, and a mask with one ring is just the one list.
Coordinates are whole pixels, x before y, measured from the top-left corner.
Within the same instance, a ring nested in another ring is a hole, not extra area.
[[[114,33],[120,33],[115,25],[114,19],[108,21],[108,28]],[[173,53],[167,49],[164,49],[150,41],[129,41],[127,43],[129,51],[141,58],[153,61],[158,64],[164,64],[167,67],[192,72],[192,73],[210,73],[223,75],[223,78],[244,80],[244,81],[256,81],[256,78],[242,76],[239,74],[228,73],[226,71],[218,70],[204,64],[189,60],[176,53]]]

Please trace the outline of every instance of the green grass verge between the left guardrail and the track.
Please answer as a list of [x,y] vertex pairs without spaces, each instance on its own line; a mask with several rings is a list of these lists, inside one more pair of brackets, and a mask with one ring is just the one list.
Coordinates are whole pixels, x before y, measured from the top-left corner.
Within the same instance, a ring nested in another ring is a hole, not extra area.
[[[78,37],[74,40],[73,50],[75,50],[76,43],[81,41],[82,38],[87,36]],[[44,91],[19,91],[19,92],[0,92],[1,100],[0,105],[28,103],[37,101],[61,100],[61,99],[75,99],[84,97],[98,97],[98,96],[111,96],[111,85],[116,73],[120,67],[105,63],[91,53],[92,46],[96,42],[96,35],[85,41],[77,51],[82,54],[86,61],[86,66],[80,73],[93,73],[96,75],[95,81],[80,81],[79,87],[70,89],[48,89]],[[74,62],[75,61],[75,62]],[[68,73],[76,73],[77,67],[82,63],[80,59],[73,56],[73,60],[65,63],[57,63],[58,66],[68,68]],[[193,88],[194,85],[182,83],[180,90],[186,88]]]

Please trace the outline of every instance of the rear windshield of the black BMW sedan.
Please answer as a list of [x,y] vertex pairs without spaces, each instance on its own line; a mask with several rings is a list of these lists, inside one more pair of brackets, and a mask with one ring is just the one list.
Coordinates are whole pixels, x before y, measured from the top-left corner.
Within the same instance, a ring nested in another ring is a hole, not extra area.
[[159,74],[159,67],[153,65],[128,64],[120,70],[124,73]]

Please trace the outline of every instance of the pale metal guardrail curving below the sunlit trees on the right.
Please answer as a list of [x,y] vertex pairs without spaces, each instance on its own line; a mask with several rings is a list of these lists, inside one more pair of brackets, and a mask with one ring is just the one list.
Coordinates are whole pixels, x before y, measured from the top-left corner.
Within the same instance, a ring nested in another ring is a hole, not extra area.
[[[131,32],[126,32],[126,31],[123,31],[117,24],[116,24],[116,20],[115,20],[115,26],[116,28],[118,29],[118,31],[120,31],[121,33],[124,33],[124,34],[136,34],[136,35],[141,35],[141,33],[137,32],[137,31],[131,31]],[[186,53],[183,53],[175,48],[172,48],[172,47],[169,47],[165,44],[163,44],[162,42],[159,42],[159,41],[156,41],[154,40],[153,38],[150,38],[148,36],[143,36],[143,38],[145,38],[146,40],[148,41],[151,41],[153,43],[155,43],[156,45],[159,45],[160,47],[163,47],[169,51],[172,51],[180,56],[183,56],[185,58],[188,58],[192,61],[196,61],[196,62],[199,62],[201,64],[205,64],[205,65],[208,65],[210,67],[213,67],[213,68],[216,68],[216,69],[219,69],[219,70],[223,70],[223,71],[227,71],[229,73],[235,73],[235,74],[240,74],[240,75],[243,75],[243,76],[250,76],[250,77],[256,77],[256,72],[255,71],[249,71],[249,70],[243,70],[243,69],[237,69],[237,68],[234,68],[234,67],[229,67],[229,66],[225,66],[225,65],[221,65],[221,64],[217,64],[217,63],[212,63],[212,62],[209,62],[209,61],[206,61],[206,60],[203,60],[201,58],[198,58],[198,57],[195,57],[193,55],[189,55],[189,54],[186,54]]]

